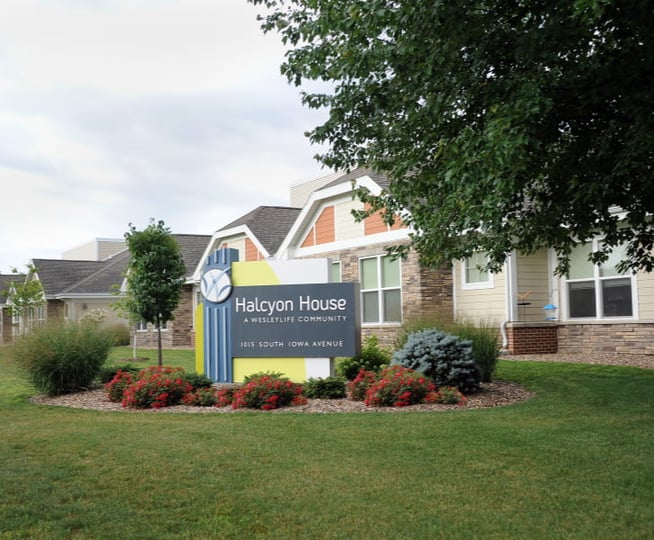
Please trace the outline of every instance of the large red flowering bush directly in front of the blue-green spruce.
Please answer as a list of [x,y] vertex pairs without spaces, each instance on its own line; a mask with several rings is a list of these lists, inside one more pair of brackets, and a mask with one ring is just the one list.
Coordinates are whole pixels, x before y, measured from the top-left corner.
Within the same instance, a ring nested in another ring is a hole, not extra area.
[[424,403],[435,390],[431,379],[400,365],[382,370],[379,379],[366,391],[364,403],[370,407],[407,407]]

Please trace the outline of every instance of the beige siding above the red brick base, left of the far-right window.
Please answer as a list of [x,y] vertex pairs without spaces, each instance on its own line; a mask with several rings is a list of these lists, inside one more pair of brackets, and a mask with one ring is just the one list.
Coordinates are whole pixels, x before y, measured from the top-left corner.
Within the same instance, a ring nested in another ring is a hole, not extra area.
[[[540,250],[533,255],[517,255],[517,286],[518,295],[524,295],[526,305],[518,303],[517,316],[519,321],[540,322],[545,320],[547,313],[543,306],[550,300],[558,305],[558,299],[549,296],[550,272],[548,269],[547,250]],[[516,298],[520,302],[520,298]]]

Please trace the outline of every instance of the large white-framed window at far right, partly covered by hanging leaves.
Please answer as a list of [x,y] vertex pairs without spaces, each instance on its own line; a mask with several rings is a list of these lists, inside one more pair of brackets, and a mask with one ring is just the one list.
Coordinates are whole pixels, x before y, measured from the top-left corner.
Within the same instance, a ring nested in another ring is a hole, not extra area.
[[566,279],[569,318],[633,317],[632,277],[616,269],[624,249],[616,248],[604,264],[596,265],[588,256],[597,248],[597,241],[580,244],[570,254]]

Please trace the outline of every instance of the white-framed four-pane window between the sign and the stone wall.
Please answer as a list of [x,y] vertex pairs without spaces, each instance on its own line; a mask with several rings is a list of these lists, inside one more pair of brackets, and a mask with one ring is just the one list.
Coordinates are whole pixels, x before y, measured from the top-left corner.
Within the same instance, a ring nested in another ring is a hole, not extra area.
[[402,321],[400,260],[386,255],[359,261],[364,323]]

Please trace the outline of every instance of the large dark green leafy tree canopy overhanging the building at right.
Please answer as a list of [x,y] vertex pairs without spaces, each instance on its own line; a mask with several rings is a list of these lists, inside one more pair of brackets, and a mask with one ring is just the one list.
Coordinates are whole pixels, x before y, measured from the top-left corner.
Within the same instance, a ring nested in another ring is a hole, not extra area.
[[408,211],[423,262],[553,247],[565,273],[601,235],[594,261],[654,268],[651,0],[250,2],[289,82],[327,83],[302,94],[329,111],[318,158],[386,173],[361,196]]

